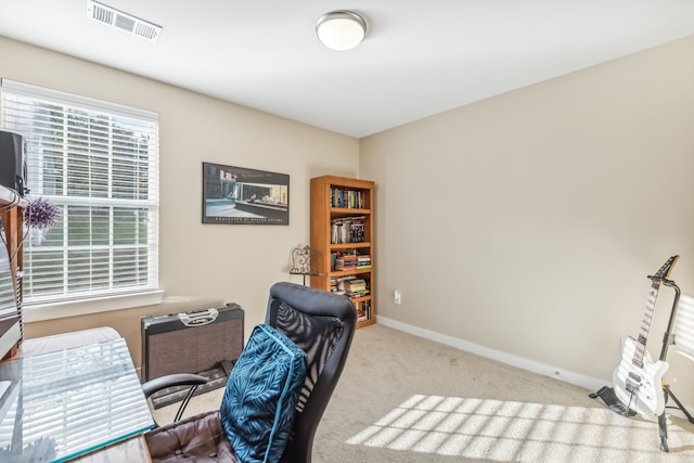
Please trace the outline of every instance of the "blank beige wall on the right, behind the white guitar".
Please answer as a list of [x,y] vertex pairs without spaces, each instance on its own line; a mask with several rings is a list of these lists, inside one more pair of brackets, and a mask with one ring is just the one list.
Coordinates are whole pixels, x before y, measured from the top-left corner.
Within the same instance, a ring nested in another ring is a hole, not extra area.
[[[694,293],[692,56],[689,38],[361,140],[378,314],[611,382],[646,275],[680,254],[671,276]],[[692,362],[668,359],[694,403]]]

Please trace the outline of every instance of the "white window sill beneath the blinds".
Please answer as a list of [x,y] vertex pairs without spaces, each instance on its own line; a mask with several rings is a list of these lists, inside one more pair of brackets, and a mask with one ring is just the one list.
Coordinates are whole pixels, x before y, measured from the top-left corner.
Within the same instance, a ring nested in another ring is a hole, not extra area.
[[66,317],[153,306],[160,304],[163,298],[164,291],[157,290],[147,293],[126,294],[98,299],[25,306],[22,312],[24,322],[31,323]]

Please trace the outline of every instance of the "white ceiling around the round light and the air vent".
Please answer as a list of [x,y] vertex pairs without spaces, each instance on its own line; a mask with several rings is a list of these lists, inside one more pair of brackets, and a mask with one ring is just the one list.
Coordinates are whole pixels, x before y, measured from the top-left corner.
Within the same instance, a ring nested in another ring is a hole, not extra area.
[[[694,34],[694,0],[102,3],[159,40],[93,22],[87,0],[0,0],[0,36],[357,138]],[[314,24],[345,9],[369,31],[331,51]]]

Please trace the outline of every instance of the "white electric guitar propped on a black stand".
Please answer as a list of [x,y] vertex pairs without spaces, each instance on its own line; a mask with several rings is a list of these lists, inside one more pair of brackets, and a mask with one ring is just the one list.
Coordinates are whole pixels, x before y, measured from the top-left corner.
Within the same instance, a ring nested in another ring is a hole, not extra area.
[[621,339],[621,361],[612,375],[617,398],[630,410],[643,416],[659,416],[665,410],[663,375],[669,364],[663,360],[654,362],[651,359],[646,351],[646,340],[660,284],[670,275],[672,266],[679,258],[677,255],[670,257],[655,275],[648,275],[652,284],[639,338],[629,336]]

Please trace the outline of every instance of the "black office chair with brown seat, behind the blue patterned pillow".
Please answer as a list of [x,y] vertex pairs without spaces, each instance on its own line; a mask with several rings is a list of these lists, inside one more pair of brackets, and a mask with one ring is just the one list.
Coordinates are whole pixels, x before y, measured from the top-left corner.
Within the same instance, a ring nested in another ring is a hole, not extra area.
[[[307,373],[282,462],[310,463],[313,436],[347,360],[357,324],[351,300],[293,283],[270,288],[266,324],[307,355]],[[153,462],[237,462],[219,411],[202,413],[145,435]]]

